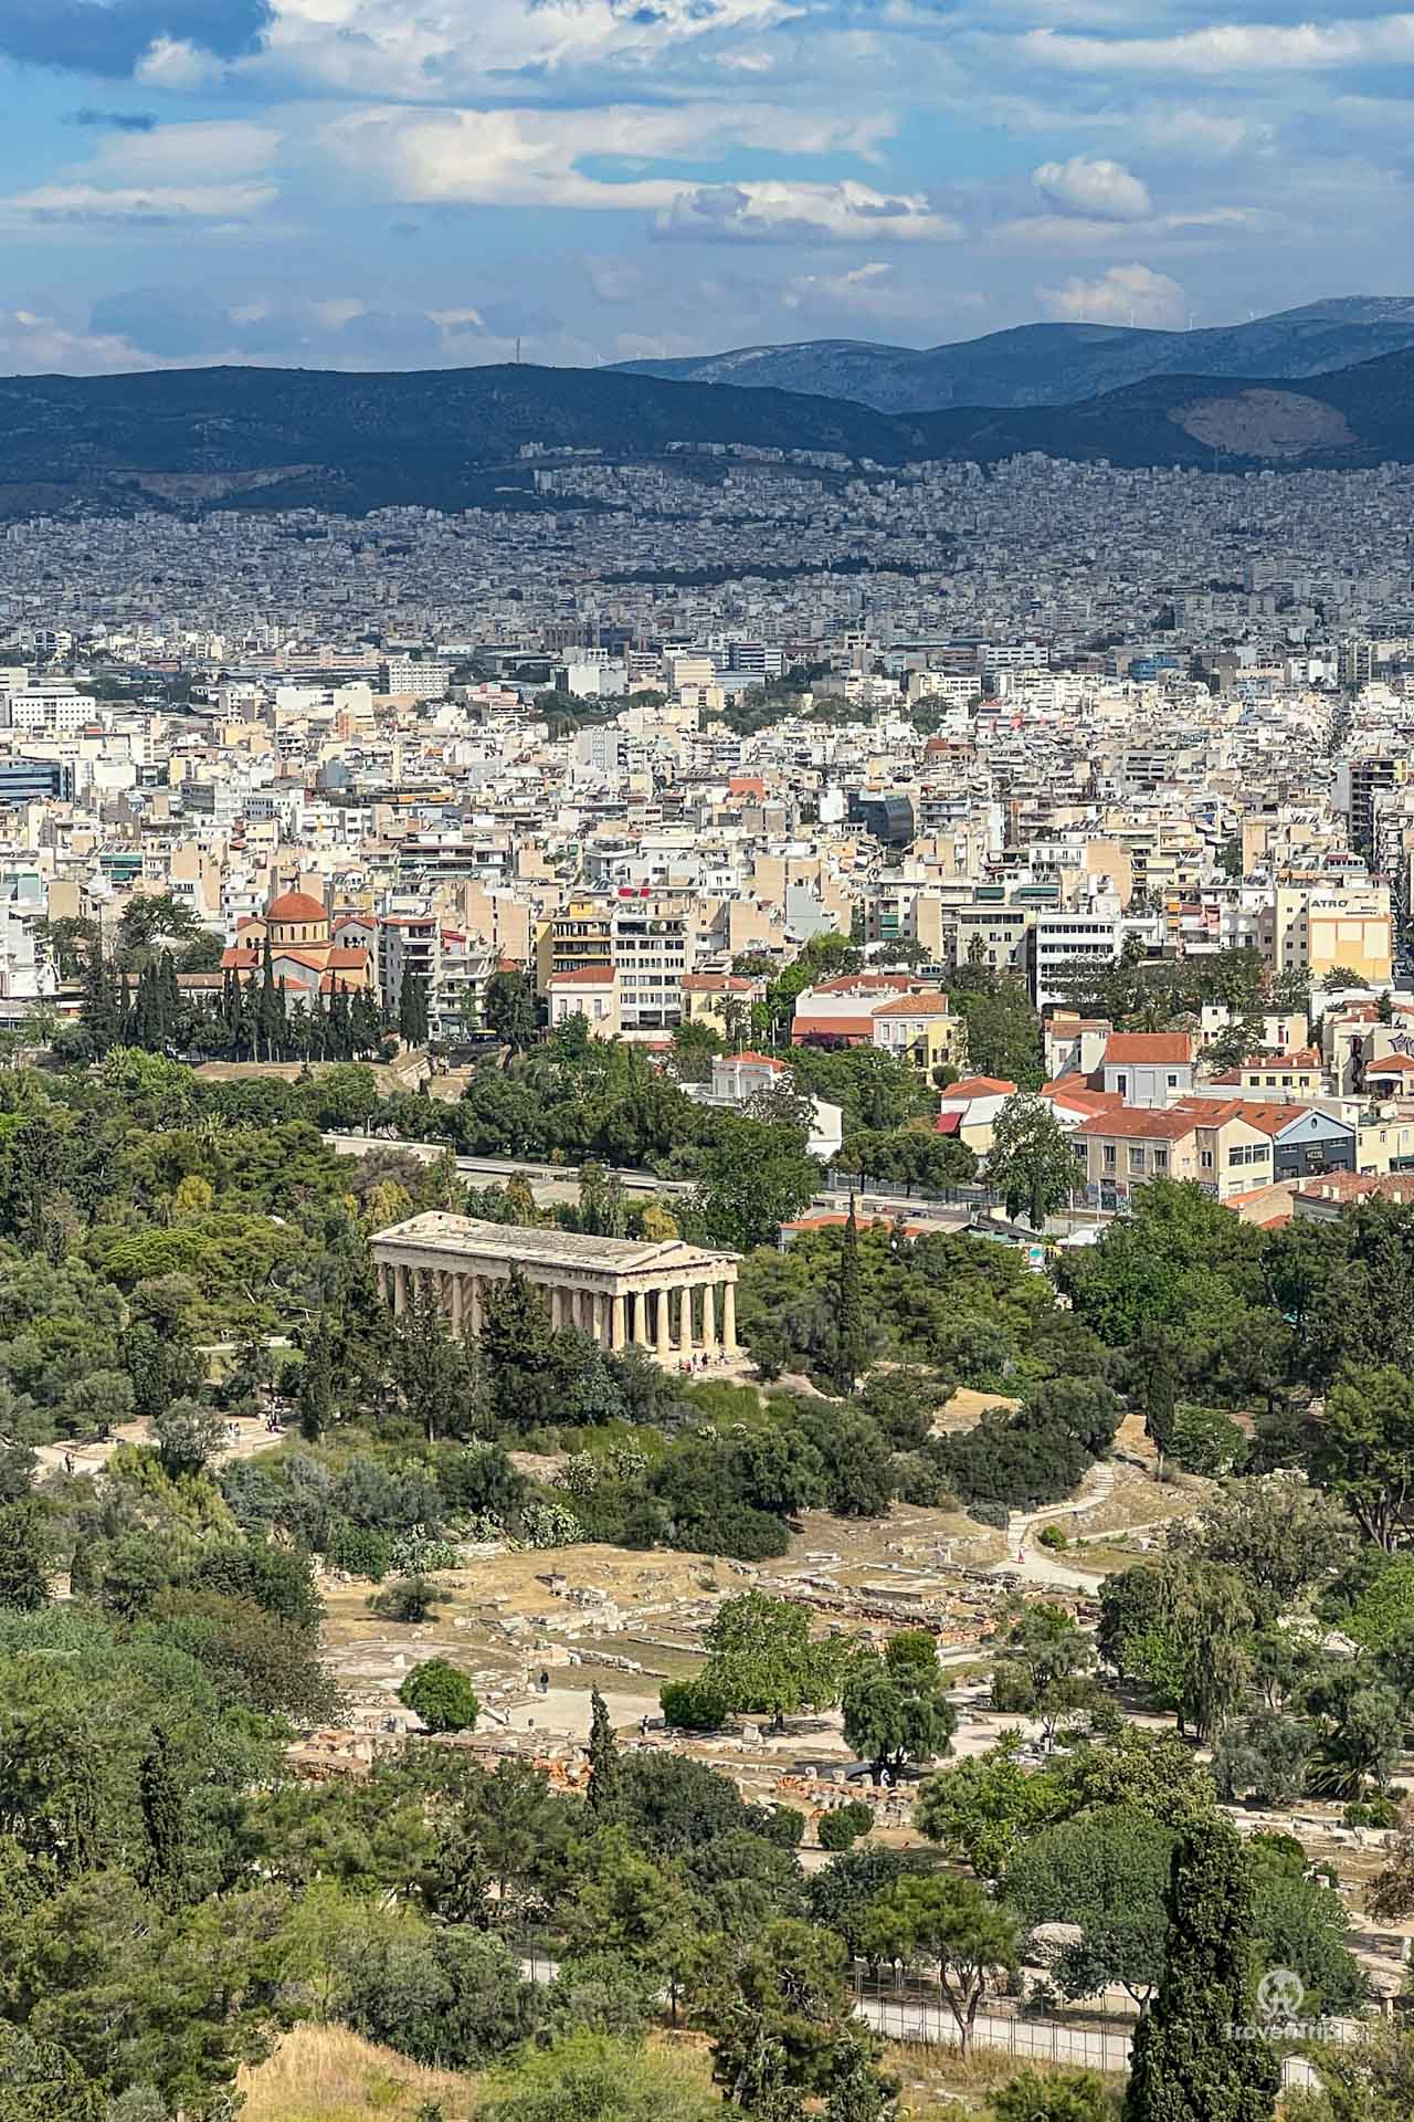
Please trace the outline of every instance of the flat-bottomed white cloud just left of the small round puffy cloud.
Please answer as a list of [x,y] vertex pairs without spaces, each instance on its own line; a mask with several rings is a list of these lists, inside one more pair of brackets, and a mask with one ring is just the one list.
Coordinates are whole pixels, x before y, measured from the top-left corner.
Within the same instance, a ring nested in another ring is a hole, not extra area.
[[657,214],[661,236],[712,242],[958,242],[967,231],[926,193],[835,185],[742,182],[678,191]]

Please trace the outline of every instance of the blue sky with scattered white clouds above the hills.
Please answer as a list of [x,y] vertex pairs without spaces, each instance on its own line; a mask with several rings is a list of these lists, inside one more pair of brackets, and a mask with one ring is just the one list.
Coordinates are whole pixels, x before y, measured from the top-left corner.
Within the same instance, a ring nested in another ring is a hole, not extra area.
[[0,373],[1414,295],[1378,0],[0,0]]

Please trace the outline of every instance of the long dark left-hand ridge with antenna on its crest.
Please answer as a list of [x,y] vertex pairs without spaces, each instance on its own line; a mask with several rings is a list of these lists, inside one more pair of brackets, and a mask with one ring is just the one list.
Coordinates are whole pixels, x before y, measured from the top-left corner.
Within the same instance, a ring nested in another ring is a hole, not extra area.
[[920,437],[839,399],[608,369],[350,376],[163,369],[0,380],[0,516],[151,503],[363,514],[530,499],[524,443],[651,456],[670,441],[899,463]]

